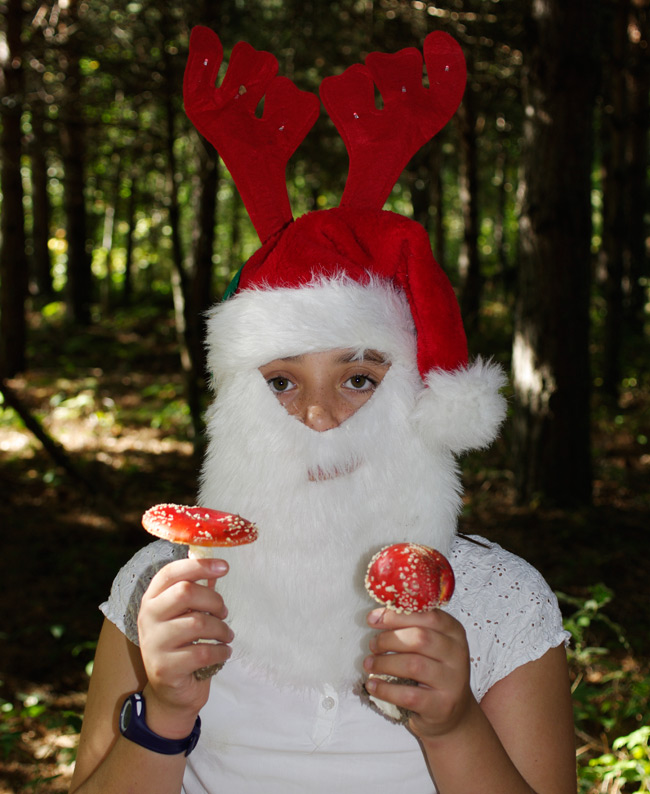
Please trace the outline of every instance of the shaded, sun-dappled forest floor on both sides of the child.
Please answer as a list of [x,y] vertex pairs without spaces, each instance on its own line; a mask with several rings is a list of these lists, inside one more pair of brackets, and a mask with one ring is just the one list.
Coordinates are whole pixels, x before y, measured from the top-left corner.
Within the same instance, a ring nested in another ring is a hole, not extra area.
[[[0,794],[67,790],[97,605],[147,542],[142,512],[195,501],[200,459],[187,440],[174,330],[159,313],[116,316],[110,328],[74,335],[56,318],[35,316],[32,326],[30,369],[10,385],[84,481],[57,467],[0,405]],[[464,462],[461,529],[522,555],[576,604],[593,602],[595,586],[611,589],[603,619],[583,620],[588,642],[607,645],[621,669],[647,683],[650,389],[630,384],[619,406],[594,412],[592,507],[517,506],[502,441]],[[597,683],[603,672],[590,670]],[[593,741],[602,749],[609,740]]]

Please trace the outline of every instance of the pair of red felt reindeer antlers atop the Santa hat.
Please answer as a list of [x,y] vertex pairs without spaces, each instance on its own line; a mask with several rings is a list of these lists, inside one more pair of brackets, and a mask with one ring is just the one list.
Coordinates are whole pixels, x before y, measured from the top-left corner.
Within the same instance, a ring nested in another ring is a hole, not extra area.
[[[316,96],[278,77],[278,62],[245,42],[232,51],[220,88],[215,81],[223,47],[212,30],[196,27],[183,91],[185,110],[217,149],[265,242],[293,216],[287,163],[318,118]],[[445,126],[465,89],[465,59],[446,33],[424,41],[429,88],[422,85],[422,55],[413,47],[374,52],[365,65],[321,83],[320,94],[350,158],[341,206],[381,209],[411,157]],[[374,86],[384,107],[375,106]],[[264,100],[262,118],[255,115]]]

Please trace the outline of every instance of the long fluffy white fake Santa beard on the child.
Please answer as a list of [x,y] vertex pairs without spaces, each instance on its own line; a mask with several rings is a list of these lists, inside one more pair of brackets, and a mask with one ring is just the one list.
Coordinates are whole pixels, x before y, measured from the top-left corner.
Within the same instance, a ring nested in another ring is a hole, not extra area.
[[394,363],[364,406],[322,433],[290,416],[257,370],[219,389],[200,504],[259,528],[256,543],[218,550],[230,564],[218,587],[234,658],[277,684],[353,686],[368,651],[370,558],[400,541],[449,551],[460,486],[451,454],[413,426],[422,388]]

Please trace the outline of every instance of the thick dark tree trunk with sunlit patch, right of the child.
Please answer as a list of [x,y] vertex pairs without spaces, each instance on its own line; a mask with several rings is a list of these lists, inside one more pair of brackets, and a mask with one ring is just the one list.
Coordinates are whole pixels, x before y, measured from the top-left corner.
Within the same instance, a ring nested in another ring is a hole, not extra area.
[[591,499],[589,292],[597,0],[534,0],[524,49],[513,451],[522,502]]

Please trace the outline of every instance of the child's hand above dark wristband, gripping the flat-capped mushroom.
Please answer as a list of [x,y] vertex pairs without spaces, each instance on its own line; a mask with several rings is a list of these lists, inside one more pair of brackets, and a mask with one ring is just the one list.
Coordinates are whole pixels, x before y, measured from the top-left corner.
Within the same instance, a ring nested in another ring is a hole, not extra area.
[[[228,572],[217,559],[184,559],[166,565],[142,598],[138,616],[140,652],[147,673],[147,724],[167,738],[189,735],[210,692],[210,679],[194,671],[225,662],[233,633],[214,581]],[[208,586],[199,584],[208,580]],[[199,639],[219,644],[199,643]]]

